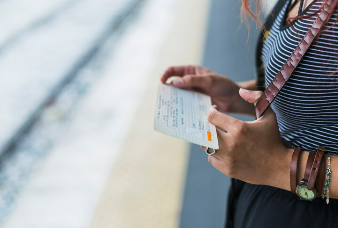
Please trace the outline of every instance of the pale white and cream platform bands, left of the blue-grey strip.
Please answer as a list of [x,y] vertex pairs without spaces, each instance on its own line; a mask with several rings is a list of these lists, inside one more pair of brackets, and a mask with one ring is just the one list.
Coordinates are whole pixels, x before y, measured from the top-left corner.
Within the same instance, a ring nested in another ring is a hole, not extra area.
[[168,66],[200,63],[208,3],[145,2],[2,228],[178,227],[189,144],[153,130],[156,92]]

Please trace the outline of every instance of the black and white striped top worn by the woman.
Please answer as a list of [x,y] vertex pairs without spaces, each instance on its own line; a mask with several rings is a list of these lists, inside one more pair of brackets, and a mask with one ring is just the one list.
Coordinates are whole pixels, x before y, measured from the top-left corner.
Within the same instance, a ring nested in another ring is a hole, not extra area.
[[[272,25],[263,49],[265,83],[269,85],[315,20],[315,16],[283,26],[290,0]],[[314,13],[322,0],[305,14]],[[315,151],[318,145],[338,155],[338,12],[334,12],[318,40],[272,104],[282,138]]]

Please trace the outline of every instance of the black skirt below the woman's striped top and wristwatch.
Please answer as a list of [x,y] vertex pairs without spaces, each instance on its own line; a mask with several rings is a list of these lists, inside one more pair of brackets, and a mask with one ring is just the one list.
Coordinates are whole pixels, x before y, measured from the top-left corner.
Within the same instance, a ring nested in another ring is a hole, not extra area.
[[338,200],[302,201],[279,188],[232,179],[226,228],[338,227]]

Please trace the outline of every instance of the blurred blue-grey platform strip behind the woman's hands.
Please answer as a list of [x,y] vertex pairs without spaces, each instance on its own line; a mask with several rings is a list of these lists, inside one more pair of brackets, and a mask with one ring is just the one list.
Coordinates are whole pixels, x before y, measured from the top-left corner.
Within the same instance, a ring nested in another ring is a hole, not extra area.
[[[253,79],[258,31],[251,29],[246,43],[246,28],[240,27],[239,1],[212,0],[211,4],[203,66],[235,81]],[[230,179],[207,162],[199,146],[192,145],[190,151],[180,227],[223,227]]]

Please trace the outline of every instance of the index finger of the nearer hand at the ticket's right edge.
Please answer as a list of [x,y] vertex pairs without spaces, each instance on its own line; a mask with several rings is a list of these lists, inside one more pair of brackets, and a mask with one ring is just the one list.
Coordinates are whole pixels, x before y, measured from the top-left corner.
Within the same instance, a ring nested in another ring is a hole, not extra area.
[[209,108],[207,118],[210,123],[212,123],[216,127],[219,127],[220,129],[222,129],[222,131],[225,132],[231,131],[231,129],[235,129],[237,124],[241,122],[240,120],[219,112],[216,109],[215,105]]

